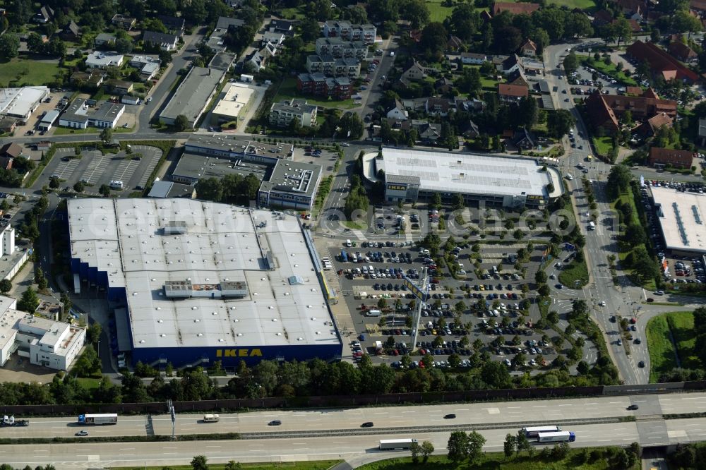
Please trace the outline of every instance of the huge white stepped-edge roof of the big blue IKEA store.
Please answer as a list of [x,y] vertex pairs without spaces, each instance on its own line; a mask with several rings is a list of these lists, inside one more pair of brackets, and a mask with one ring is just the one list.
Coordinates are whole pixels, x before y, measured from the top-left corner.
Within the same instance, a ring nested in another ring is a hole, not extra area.
[[[126,288],[136,348],[339,344],[297,218],[273,214],[181,198],[72,199],[72,258]],[[186,222],[186,234],[165,235],[169,222]],[[240,281],[247,295],[167,299],[166,281]]]

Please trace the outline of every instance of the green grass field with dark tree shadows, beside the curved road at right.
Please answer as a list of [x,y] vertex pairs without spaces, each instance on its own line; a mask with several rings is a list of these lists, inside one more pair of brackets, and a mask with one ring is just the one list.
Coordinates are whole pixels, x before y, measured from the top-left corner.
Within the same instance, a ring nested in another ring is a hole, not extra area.
[[[676,349],[669,339],[671,331]],[[683,368],[700,368],[695,355],[694,315],[691,312],[671,312],[652,318],[647,323],[647,348],[650,350],[650,382],[676,367],[676,354]]]

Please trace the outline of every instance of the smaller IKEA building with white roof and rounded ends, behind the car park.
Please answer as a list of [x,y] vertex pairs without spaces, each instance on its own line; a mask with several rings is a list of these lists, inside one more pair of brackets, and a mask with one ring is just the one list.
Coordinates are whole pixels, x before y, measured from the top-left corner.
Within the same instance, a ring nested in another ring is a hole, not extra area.
[[450,203],[460,193],[471,207],[544,207],[563,191],[561,174],[534,159],[383,148],[363,161],[369,181],[384,171],[388,203],[429,201],[436,193]]

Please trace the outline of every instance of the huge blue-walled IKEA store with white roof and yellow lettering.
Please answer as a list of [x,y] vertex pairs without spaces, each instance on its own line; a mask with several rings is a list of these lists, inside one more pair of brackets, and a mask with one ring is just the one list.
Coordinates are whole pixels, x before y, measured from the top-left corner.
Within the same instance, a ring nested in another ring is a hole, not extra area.
[[335,360],[335,327],[299,218],[179,199],[68,200],[71,267],[116,306],[133,363]]

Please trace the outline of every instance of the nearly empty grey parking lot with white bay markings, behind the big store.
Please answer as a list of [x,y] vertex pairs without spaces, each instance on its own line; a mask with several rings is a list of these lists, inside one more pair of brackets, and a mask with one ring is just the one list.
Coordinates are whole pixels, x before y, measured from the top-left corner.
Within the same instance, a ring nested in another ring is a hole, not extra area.
[[92,192],[114,180],[123,181],[125,190],[144,188],[162,151],[145,145],[133,145],[131,150],[130,154],[124,150],[102,154],[100,150],[84,149],[80,156],[76,156],[73,148],[59,149],[47,174],[65,181],[66,186],[83,181],[95,187]]

